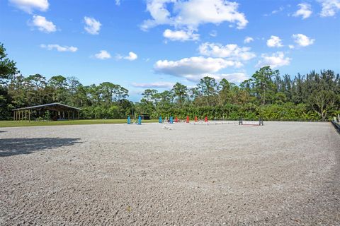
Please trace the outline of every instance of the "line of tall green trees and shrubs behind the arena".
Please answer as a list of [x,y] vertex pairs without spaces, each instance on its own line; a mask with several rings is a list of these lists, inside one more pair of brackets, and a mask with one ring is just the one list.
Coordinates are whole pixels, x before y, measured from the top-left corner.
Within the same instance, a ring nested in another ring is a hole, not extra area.
[[193,88],[176,83],[162,93],[147,89],[140,102],[131,102],[128,96],[126,88],[111,82],[82,85],[72,76],[22,76],[0,44],[0,119],[11,119],[14,108],[50,102],[81,107],[82,119],[146,113],[153,118],[324,121],[340,114],[339,73],[331,70],[292,77],[265,66],[239,85],[205,76]]

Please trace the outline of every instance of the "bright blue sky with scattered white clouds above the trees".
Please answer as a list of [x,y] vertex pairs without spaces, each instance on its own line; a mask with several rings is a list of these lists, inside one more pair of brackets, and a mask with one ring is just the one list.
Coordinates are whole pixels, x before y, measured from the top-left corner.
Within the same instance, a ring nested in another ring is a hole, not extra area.
[[340,69],[340,0],[0,0],[0,42],[24,76],[146,88]]

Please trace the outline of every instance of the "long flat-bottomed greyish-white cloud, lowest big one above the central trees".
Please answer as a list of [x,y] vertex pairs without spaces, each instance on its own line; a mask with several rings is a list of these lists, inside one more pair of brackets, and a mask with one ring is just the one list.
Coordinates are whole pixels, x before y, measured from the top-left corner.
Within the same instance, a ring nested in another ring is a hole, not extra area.
[[229,66],[240,67],[242,63],[222,58],[190,57],[179,61],[159,60],[154,64],[154,71],[188,78],[203,73],[215,73]]

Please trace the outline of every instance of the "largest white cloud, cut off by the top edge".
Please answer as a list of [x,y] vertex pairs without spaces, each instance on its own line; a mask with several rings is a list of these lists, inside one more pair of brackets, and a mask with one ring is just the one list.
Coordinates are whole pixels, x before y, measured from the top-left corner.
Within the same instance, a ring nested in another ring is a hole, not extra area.
[[[172,6],[172,11],[168,7]],[[244,13],[237,11],[239,4],[226,0],[147,0],[147,11],[152,19],[145,20],[141,28],[148,30],[157,25],[196,30],[204,23],[236,23],[242,29],[248,23]]]

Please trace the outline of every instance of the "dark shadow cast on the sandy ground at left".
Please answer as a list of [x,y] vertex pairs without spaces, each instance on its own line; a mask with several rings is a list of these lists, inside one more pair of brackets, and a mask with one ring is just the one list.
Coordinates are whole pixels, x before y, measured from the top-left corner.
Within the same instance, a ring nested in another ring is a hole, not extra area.
[[70,146],[81,143],[79,140],[80,138],[0,138],[0,157]]

